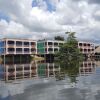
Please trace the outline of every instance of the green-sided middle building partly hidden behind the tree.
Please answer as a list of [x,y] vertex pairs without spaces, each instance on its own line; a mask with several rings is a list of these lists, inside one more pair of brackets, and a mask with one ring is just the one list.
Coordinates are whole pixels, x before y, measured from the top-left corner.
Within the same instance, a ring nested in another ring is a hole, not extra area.
[[59,47],[64,44],[64,41],[57,40],[41,40],[37,42],[38,54],[54,54],[59,51]]

